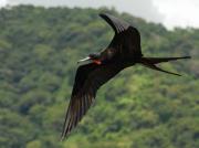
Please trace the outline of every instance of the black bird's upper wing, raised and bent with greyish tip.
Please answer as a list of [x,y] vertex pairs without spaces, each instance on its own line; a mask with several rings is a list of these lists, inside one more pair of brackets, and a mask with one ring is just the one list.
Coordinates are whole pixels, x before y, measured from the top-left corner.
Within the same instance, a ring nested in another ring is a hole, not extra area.
[[119,56],[143,56],[140,50],[140,34],[139,31],[129,23],[122,21],[111,14],[100,14],[115,31],[115,35],[108,47],[102,52],[105,57],[109,53]]

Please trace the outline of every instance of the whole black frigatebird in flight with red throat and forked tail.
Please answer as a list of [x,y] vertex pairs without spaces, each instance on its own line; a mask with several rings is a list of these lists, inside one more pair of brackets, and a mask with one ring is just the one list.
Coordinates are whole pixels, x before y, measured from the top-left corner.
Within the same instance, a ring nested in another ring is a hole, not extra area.
[[125,67],[139,63],[153,70],[180,76],[161,70],[156,64],[179,59],[190,59],[190,56],[144,57],[140,47],[140,34],[136,28],[111,14],[102,13],[100,15],[113,28],[115,35],[111,44],[100,54],[90,54],[86,59],[78,61],[91,61],[91,63],[81,65],[77,68],[62,139],[76,127],[85,115],[95,99],[97,89]]

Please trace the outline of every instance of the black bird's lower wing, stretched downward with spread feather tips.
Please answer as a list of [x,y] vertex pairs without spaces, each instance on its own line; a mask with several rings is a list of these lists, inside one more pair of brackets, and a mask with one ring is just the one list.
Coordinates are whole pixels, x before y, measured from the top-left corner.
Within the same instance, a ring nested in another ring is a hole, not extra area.
[[95,99],[97,89],[121,70],[122,67],[114,64],[96,65],[93,63],[77,68],[61,139],[64,139],[76,127]]

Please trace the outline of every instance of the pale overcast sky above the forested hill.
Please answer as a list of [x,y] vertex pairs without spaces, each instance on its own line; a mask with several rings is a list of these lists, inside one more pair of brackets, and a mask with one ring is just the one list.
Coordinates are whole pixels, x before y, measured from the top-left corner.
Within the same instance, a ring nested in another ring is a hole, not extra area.
[[161,22],[169,29],[199,28],[199,0],[0,0],[0,7],[19,3],[45,7],[115,7],[121,12]]

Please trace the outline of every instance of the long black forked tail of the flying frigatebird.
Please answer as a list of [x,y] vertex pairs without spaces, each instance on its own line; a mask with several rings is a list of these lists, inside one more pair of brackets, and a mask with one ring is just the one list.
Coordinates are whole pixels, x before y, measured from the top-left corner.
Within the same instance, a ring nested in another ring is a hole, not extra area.
[[163,70],[156,65],[156,64],[161,63],[161,62],[176,61],[176,60],[180,60],[180,59],[190,59],[190,56],[184,56],[184,57],[142,57],[139,63],[142,63],[144,66],[147,66],[147,67],[156,70],[156,71],[160,71],[160,72],[165,72],[168,74],[181,76],[180,74],[165,71],[165,70]]

